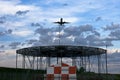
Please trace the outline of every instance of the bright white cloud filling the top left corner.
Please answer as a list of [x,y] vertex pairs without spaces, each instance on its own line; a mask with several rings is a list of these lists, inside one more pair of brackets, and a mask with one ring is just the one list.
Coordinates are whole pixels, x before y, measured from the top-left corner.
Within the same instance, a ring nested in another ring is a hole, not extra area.
[[[34,6],[30,6],[30,5],[22,5],[19,4],[21,3],[20,1],[14,1],[14,0],[10,0],[10,1],[0,1],[0,14],[1,15],[14,15],[18,10],[20,11],[24,11],[24,10],[33,10]],[[8,7],[9,6],[9,7]]]

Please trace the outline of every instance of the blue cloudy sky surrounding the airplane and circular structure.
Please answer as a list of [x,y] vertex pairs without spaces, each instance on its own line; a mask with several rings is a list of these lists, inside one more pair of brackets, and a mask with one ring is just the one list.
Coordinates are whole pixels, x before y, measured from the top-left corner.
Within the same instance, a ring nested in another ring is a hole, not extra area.
[[[15,67],[17,49],[61,44],[106,48],[120,73],[120,0],[0,0],[0,66]],[[70,22],[60,27],[53,22]],[[12,64],[11,64],[12,63]]]

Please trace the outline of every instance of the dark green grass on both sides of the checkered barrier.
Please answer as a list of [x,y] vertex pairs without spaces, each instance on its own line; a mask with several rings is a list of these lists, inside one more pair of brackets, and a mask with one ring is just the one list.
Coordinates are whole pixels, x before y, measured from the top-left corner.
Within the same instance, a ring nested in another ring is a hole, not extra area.
[[[16,69],[0,67],[0,80],[44,80],[45,70]],[[77,80],[120,80],[120,74],[96,74],[77,70]]]

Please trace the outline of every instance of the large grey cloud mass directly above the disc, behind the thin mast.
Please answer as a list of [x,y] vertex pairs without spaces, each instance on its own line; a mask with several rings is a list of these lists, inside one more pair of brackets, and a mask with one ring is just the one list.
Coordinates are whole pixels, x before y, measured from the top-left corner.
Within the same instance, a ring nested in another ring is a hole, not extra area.
[[[36,34],[39,34],[39,44],[57,44],[59,42],[58,27],[52,28],[37,28]],[[61,44],[77,44],[91,46],[112,46],[111,41],[102,39],[98,31],[92,25],[80,25],[60,28]]]

